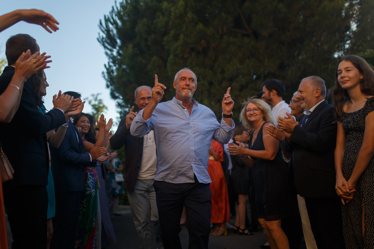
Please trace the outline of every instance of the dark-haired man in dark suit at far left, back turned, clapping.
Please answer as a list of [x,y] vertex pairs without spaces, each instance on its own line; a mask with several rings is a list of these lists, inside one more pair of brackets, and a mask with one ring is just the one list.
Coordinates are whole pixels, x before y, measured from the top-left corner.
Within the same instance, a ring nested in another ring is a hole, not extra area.
[[[7,66],[0,76],[0,93],[10,83],[17,58],[28,49],[39,51],[34,38],[27,34],[10,37],[6,43]],[[64,112],[71,101],[59,98],[55,109],[39,113],[30,80],[24,83],[18,111],[9,124],[0,123],[0,141],[14,168],[13,180],[3,184],[12,248],[46,248],[47,190],[49,156],[46,133],[65,123]]]

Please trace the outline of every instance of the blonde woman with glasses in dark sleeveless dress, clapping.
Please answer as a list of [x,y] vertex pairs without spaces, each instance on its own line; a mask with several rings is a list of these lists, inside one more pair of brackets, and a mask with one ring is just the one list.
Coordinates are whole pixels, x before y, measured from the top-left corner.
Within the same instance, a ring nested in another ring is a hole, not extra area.
[[249,148],[229,143],[228,151],[240,155],[252,167],[252,187],[255,189],[258,222],[264,229],[271,248],[289,248],[281,228],[282,202],[286,197],[288,166],[282,159],[278,140],[269,136],[266,127],[273,125],[269,105],[260,99],[250,98],[240,112],[240,121],[251,130]]

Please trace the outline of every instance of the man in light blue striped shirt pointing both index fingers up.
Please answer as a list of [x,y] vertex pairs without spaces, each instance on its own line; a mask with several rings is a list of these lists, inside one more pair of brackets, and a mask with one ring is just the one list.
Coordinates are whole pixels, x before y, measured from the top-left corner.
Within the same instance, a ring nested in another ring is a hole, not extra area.
[[206,106],[192,96],[196,75],[188,68],[179,71],[173,82],[175,97],[160,103],[165,85],[155,75],[152,101],[135,117],[130,131],[142,137],[154,131],[157,172],[154,179],[162,241],[165,249],[181,249],[180,217],[186,207],[188,248],[208,248],[211,197],[208,155],[212,138],[227,143],[233,134],[234,101],[227,89],[222,101],[221,124]]

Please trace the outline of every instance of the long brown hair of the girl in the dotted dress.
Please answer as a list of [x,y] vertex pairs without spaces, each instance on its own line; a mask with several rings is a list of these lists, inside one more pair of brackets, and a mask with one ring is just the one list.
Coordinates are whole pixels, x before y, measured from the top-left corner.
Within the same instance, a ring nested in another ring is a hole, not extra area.
[[[361,92],[370,96],[374,95],[374,71],[366,60],[356,55],[347,55],[341,58],[336,66],[336,83],[334,89],[332,90],[332,101],[334,102],[335,116],[339,115],[341,119],[344,118],[344,102],[350,99],[348,91],[341,88],[338,82],[338,66],[343,60],[352,63],[353,66],[358,69],[360,74],[362,74],[362,79],[360,81]],[[373,98],[370,98],[370,100],[373,100]]]

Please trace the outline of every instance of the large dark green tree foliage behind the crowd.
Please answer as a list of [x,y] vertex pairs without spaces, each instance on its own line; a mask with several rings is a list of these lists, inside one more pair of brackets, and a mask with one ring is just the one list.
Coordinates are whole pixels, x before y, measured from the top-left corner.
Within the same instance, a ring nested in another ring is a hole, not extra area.
[[168,87],[163,101],[171,100],[175,73],[191,68],[194,99],[218,117],[232,87],[237,121],[240,103],[264,80],[283,81],[289,100],[310,75],[332,87],[337,56],[373,59],[373,11],[373,0],[125,0],[100,21],[103,75],[125,110],[136,87],[153,86],[154,74]]

